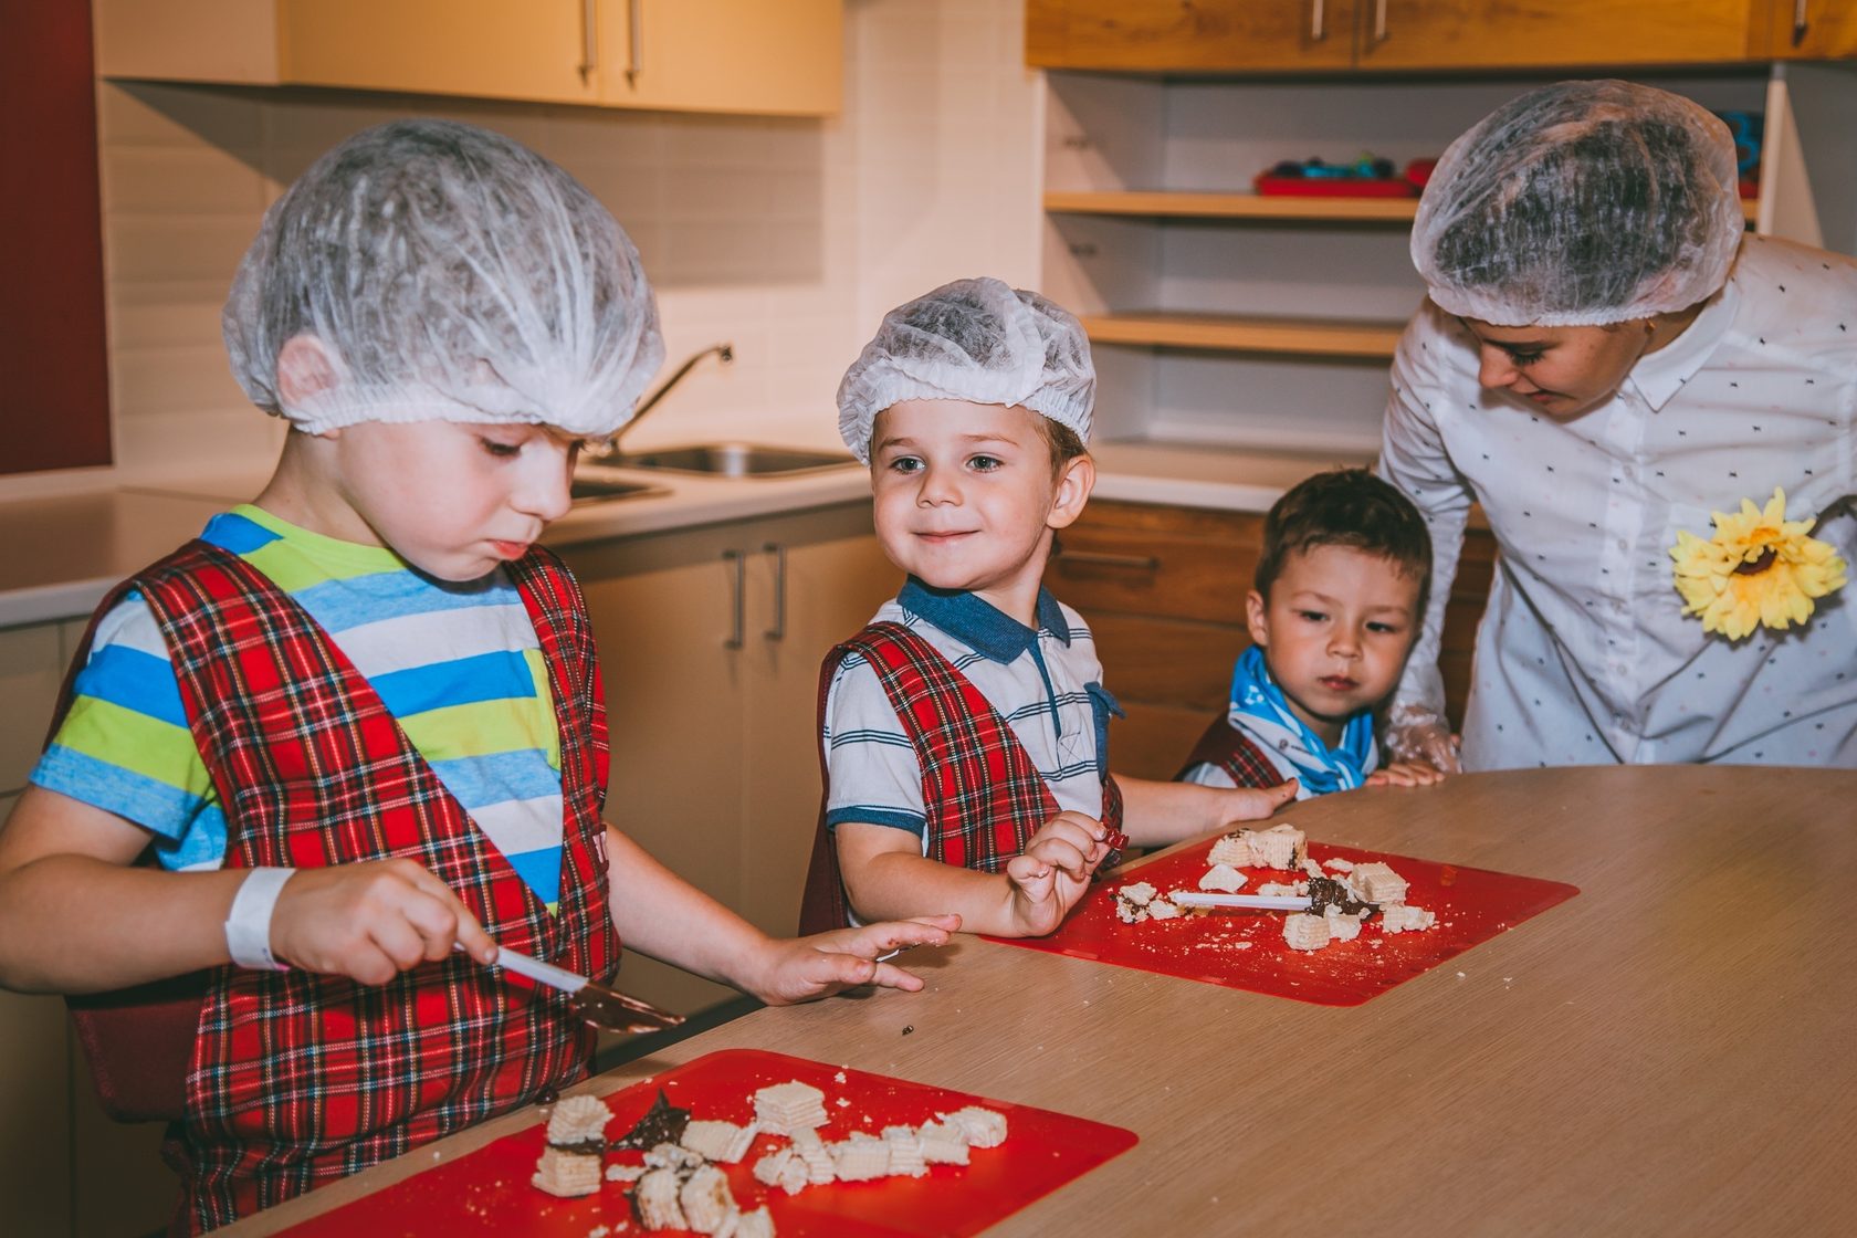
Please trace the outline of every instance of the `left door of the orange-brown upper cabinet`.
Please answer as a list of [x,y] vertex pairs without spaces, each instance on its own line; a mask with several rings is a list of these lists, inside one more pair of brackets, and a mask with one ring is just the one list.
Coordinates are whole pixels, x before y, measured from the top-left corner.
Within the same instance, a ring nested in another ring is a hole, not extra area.
[[1155,72],[1344,69],[1359,2],[1029,0],[1025,61]]

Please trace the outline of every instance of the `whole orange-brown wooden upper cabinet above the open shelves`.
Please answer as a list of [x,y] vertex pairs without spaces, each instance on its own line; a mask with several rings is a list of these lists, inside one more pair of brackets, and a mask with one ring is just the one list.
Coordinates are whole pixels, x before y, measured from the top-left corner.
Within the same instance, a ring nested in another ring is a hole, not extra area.
[[1029,0],[1045,69],[1729,65],[1857,54],[1850,0]]

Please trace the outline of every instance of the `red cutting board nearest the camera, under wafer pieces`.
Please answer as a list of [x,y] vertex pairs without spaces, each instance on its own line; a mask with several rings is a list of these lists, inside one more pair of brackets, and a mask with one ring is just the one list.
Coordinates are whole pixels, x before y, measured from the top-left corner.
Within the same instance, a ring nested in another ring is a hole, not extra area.
[[[1133,1130],[1068,1114],[756,1049],[704,1054],[611,1093],[605,1103],[613,1110],[613,1121],[605,1132],[609,1140],[626,1134],[657,1099],[659,1088],[670,1104],[689,1110],[693,1117],[747,1123],[754,1117],[754,1091],[789,1078],[825,1091],[828,1117],[819,1134],[826,1141],[843,1140],[852,1130],[878,1134],[884,1127],[921,1125],[936,1114],[949,1114],[967,1104],[984,1104],[1005,1114],[1006,1140],[999,1147],[973,1149],[967,1166],[930,1166],[928,1175],[921,1179],[832,1182],[787,1195],[780,1188],[754,1180],[754,1162],[763,1153],[786,1145],[784,1138],[763,1134],[741,1164],[722,1169],[735,1192],[735,1203],[743,1210],[765,1203],[774,1232],[782,1238],[977,1234],[1136,1143]],[[847,1104],[838,1104],[839,1099]],[[654,1232],[644,1231],[631,1216],[628,1182],[605,1182],[598,1195],[581,1199],[557,1199],[531,1186],[529,1175],[535,1173],[535,1162],[542,1154],[544,1134],[546,1123],[537,1110],[537,1123],[527,1130],[503,1136],[468,1156],[416,1173],[284,1232],[297,1238],[357,1238],[357,1234],[587,1238],[587,1232],[600,1225],[609,1227],[615,1238]],[[643,1153],[607,1153],[605,1164],[620,1162],[643,1164]]]

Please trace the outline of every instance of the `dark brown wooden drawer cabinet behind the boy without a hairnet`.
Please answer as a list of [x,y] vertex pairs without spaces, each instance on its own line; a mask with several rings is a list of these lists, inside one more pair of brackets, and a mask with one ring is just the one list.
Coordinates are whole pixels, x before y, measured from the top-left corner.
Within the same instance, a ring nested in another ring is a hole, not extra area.
[[[1090,624],[1103,685],[1127,711],[1109,731],[1116,772],[1174,778],[1207,722],[1226,711],[1231,664],[1252,642],[1244,594],[1263,523],[1261,512],[1096,501],[1064,529],[1045,587]],[[1495,538],[1473,527],[1439,657],[1454,729],[1493,568]]]

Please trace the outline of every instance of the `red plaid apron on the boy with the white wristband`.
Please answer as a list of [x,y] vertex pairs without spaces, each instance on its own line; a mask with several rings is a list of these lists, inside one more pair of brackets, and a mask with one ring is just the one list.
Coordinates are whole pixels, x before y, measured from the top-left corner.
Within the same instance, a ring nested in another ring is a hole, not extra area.
[[[225,806],[227,867],[409,858],[498,943],[605,978],[618,935],[607,909],[607,735],[592,633],[553,555],[537,549],[507,570],[535,624],[561,729],[557,917],[327,633],[238,555],[193,542],[119,587],[98,614],[128,588],[154,611]],[[184,1182],[175,1229],[193,1232],[572,1084],[594,1041],[553,993],[462,954],[381,987],[219,967],[195,1032],[186,1117],[165,1149]]]

